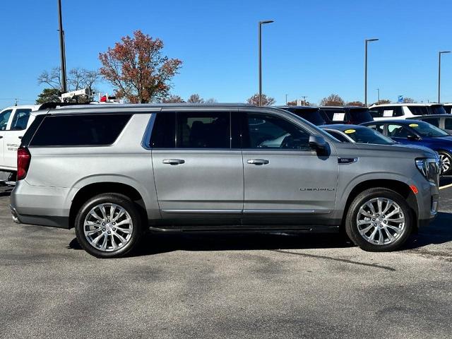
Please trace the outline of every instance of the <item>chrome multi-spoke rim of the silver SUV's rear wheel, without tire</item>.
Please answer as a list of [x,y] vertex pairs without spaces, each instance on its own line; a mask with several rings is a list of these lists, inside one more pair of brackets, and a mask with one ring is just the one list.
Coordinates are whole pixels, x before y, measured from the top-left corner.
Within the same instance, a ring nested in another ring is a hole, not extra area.
[[130,241],[132,218],[121,206],[101,203],[92,208],[83,222],[85,238],[100,251],[117,251]]

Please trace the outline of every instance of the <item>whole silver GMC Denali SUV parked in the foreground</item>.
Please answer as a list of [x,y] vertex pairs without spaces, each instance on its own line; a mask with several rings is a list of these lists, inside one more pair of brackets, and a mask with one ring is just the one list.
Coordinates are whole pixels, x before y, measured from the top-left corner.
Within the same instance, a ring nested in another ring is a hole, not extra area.
[[439,159],[341,143],[282,109],[102,105],[49,109],[18,149],[16,222],[70,229],[123,256],[148,230],[345,231],[398,249],[438,208]]

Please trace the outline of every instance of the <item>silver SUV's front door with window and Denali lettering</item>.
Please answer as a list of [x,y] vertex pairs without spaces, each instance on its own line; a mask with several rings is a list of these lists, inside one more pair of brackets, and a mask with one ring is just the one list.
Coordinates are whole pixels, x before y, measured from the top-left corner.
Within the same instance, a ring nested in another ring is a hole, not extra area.
[[244,223],[328,223],[338,183],[335,150],[317,155],[309,132],[278,115],[249,112],[242,121]]

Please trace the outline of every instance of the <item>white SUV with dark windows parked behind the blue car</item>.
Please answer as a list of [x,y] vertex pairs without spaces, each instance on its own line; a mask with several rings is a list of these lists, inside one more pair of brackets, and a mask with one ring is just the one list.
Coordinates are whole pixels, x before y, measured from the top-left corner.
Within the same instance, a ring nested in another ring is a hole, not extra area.
[[374,120],[407,119],[422,115],[446,114],[443,105],[429,104],[384,104],[372,105],[369,112]]

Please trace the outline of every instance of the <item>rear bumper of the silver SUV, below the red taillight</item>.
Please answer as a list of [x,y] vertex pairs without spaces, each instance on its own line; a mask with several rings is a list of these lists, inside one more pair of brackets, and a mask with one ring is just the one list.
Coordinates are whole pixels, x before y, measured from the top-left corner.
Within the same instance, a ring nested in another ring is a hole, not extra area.
[[20,180],[11,192],[13,221],[69,229],[69,208],[65,206],[69,189],[32,186]]

